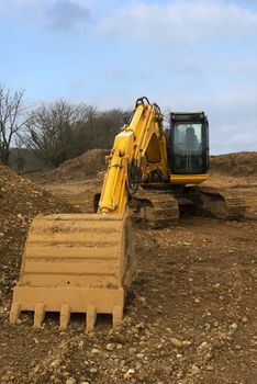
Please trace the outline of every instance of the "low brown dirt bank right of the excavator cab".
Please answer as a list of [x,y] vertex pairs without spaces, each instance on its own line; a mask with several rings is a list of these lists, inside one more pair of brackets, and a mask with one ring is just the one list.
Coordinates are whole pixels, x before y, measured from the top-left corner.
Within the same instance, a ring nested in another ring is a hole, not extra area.
[[233,177],[257,177],[257,153],[211,156],[211,171]]

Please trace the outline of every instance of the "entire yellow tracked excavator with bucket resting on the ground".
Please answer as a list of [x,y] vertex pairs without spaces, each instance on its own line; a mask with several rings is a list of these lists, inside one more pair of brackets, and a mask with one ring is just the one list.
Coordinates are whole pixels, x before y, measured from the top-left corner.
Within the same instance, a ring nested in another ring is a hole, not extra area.
[[157,104],[147,98],[136,101],[108,157],[94,214],[34,218],[13,291],[12,324],[22,310],[33,310],[35,328],[46,312],[60,314],[60,329],[67,328],[71,313],[86,314],[88,330],[97,314],[111,314],[116,326],[136,275],[131,217],[158,228],[175,225],[183,205],[226,219],[244,215],[241,197],[198,185],[209,177],[204,112],[171,112],[168,139],[163,120]]

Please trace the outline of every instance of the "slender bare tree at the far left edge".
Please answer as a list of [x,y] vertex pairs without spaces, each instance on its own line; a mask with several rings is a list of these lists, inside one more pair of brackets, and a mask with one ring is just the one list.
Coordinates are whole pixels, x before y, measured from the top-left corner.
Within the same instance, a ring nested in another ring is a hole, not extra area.
[[26,123],[24,118],[23,95],[20,88],[12,91],[0,84],[0,161],[8,165],[12,139]]

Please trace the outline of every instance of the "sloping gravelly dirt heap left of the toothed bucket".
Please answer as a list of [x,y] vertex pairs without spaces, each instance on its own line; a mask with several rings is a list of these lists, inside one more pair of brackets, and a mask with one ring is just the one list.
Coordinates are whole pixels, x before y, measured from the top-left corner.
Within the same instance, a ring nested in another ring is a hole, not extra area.
[[11,293],[16,279],[26,233],[40,213],[76,212],[31,181],[0,165],[0,298]]

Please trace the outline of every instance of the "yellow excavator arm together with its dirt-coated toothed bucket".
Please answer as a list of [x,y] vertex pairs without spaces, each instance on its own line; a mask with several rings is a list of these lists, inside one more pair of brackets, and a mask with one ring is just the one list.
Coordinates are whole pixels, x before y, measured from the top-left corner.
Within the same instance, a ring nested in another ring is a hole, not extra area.
[[10,321],[34,312],[34,327],[45,313],[59,312],[60,329],[71,313],[85,313],[87,329],[97,314],[123,317],[126,290],[135,278],[135,257],[126,204],[141,179],[157,171],[169,179],[163,115],[138,99],[131,123],[116,135],[97,214],[57,214],[34,218],[13,290]]

